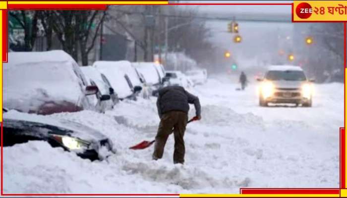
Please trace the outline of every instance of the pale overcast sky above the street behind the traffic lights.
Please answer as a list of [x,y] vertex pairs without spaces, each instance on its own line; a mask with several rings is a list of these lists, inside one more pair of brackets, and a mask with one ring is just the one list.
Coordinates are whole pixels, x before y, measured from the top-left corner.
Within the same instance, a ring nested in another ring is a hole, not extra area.
[[[180,1],[189,3],[291,3],[292,1],[260,1],[260,0],[229,0],[229,1]],[[184,6],[184,5],[183,5]],[[228,29],[228,23],[230,21],[225,20],[207,20],[206,25],[211,29],[213,36],[210,40],[215,46],[230,50],[235,55],[237,62],[240,64],[254,64],[252,62],[267,54],[267,51],[273,51],[277,49],[279,40],[288,38],[285,40],[285,45],[288,50],[291,50],[292,36],[293,36],[293,24],[290,21],[291,17],[291,5],[189,5],[198,7],[199,15],[208,17],[232,17],[235,16],[242,18],[241,16],[253,16],[257,19],[268,18],[274,19],[287,18],[286,22],[249,22],[249,21],[237,21],[239,24],[239,35],[241,35],[243,41],[240,44],[232,42],[234,34],[226,32]],[[185,7],[185,6],[184,6]],[[185,7],[186,8],[186,7]],[[270,15],[270,16],[269,16]],[[271,60],[268,60],[271,61]]]

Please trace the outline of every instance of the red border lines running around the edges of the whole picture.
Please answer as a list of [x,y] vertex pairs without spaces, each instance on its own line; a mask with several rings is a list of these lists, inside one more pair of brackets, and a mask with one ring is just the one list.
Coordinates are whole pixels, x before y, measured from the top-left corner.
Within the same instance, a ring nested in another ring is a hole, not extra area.
[[[106,5],[102,4],[72,4],[73,7],[71,7],[71,4],[9,4],[7,5],[8,9],[69,9],[73,10],[76,9],[76,6],[78,6],[77,9],[105,9]],[[133,4],[129,4],[133,5]],[[143,4],[145,5],[145,4]],[[160,4],[158,4],[160,5]],[[293,21],[293,3],[169,3],[164,5],[291,5],[291,22],[343,22],[343,21]],[[7,10],[2,10],[2,42],[4,45],[2,45],[2,59],[3,62],[7,62]],[[5,18],[5,17],[6,18]],[[344,74],[346,75],[346,22],[344,23],[344,51],[345,51],[345,61],[344,61]],[[5,50],[4,50],[5,49]],[[344,87],[346,87],[346,84],[344,83]],[[344,95],[346,96],[345,90]],[[344,102],[345,105],[345,102]],[[344,109],[346,111],[346,107]],[[344,123],[346,125],[345,120],[345,114],[344,114]],[[346,181],[345,181],[345,148],[346,148],[346,142],[345,142],[346,134],[345,129],[340,128],[340,189],[346,188]],[[2,123],[1,123],[1,196],[179,196],[179,194],[3,194],[3,142],[2,142]],[[343,174],[344,173],[344,174]],[[324,188],[324,189],[309,189],[309,188],[271,188],[271,189],[264,189],[264,188],[240,188],[240,194],[340,194],[341,192],[338,188]],[[322,193],[323,191],[323,193]]]

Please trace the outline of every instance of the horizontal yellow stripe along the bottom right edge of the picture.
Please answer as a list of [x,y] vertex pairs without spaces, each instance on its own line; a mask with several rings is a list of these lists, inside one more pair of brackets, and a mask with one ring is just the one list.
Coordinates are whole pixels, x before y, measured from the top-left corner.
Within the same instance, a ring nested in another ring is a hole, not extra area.
[[317,198],[317,197],[329,197],[338,198],[339,194],[180,194],[179,197],[193,197],[193,198],[206,198],[206,197],[216,197],[216,198],[233,198],[233,197],[243,197],[243,198],[268,198],[268,197],[283,197],[283,198]]

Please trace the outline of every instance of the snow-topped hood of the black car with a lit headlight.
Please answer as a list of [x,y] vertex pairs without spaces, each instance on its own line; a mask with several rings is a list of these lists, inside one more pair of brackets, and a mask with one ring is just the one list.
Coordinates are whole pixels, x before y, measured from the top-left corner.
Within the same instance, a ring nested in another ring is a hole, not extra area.
[[65,119],[51,118],[43,115],[22,113],[16,110],[10,110],[3,114],[4,126],[6,126],[6,122],[17,122],[18,126],[24,123],[26,126],[42,126],[44,128],[51,129],[49,133],[55,133],[54,129],[58,129],[56,133],[58,135],[68,135],[88,142],[108,139],[99,131],[77,122]]

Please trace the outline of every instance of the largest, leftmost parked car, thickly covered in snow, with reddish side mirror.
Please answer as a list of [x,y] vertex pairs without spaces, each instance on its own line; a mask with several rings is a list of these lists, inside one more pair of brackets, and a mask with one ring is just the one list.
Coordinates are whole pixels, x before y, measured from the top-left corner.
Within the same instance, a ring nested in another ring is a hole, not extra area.
[[37,114],[94,110],[86,96],[97,92],[62,50],[9,52],[3,64],[3,106],[9,109]]

